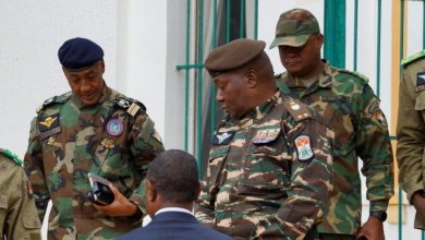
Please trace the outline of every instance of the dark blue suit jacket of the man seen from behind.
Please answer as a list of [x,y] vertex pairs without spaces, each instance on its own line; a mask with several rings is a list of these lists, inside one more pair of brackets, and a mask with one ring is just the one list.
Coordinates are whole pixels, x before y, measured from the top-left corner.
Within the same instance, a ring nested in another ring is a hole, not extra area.
[[145,227],[137,228],[117,240],[232,240],[233,238],[199,225],[194,216],[181,212],[165,212]]

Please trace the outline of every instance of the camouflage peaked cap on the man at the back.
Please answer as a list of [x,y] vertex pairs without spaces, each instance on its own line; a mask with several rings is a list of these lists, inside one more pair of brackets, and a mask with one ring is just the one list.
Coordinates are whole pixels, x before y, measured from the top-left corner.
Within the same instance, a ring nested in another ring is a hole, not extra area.
[[316,17],[304,9],[292,9],[282,13],[276,26],[276,38],[270,49],[286,45],[292,47],[303,46],[309,35],[320,33]]

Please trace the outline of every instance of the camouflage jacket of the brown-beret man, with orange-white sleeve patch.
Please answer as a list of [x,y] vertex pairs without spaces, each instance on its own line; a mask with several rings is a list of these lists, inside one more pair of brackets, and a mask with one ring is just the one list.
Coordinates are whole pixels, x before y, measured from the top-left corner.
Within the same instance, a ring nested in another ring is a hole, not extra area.
[[216,127],[195,216],[235,239],[303,239],[332,190],[333,132],[281,91]]

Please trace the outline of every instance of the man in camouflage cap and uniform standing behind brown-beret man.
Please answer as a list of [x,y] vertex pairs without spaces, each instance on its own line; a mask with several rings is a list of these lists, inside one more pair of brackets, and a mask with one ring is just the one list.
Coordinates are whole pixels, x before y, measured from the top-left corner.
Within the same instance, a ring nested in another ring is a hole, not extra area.
[[[335,188],[325,220],[323,239],[384,239],[388,201],[393,195],[393,161],[388,123],[379,99],[357,72],[333,68],[320,57],[324,36],[315,16],[302,9],[280,15],[276,39],[288,72],[276,81],[283,94],[315,108],[335,131]],[[362,173],[366,177],[371,217],[361,228]]]

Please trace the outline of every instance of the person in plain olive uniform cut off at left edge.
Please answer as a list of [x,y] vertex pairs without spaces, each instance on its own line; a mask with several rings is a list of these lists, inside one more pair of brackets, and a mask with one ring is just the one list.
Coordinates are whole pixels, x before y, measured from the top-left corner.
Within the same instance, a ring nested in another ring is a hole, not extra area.
[[22,160],[0,148],[0,239],[41,240],[31,183]]

